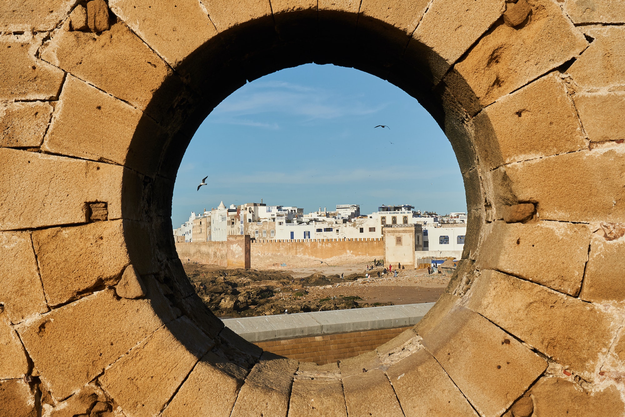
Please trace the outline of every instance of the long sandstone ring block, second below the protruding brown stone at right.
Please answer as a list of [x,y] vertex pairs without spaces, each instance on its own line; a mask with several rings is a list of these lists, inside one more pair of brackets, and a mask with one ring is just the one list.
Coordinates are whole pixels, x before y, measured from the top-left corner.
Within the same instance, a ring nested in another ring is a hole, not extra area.
[[616,331],[597,306],[499,272],[482,270],[469,296],[469,308],[584,378],[594,378]]

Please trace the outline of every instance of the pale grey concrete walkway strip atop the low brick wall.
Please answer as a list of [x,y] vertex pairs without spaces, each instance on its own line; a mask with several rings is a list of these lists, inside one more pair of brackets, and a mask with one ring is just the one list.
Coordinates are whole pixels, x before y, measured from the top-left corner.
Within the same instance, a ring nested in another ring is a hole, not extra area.
[[224,324],[250,342],[414,326],[433,302],[362,309],[316,311],[276,316],[224,319]]

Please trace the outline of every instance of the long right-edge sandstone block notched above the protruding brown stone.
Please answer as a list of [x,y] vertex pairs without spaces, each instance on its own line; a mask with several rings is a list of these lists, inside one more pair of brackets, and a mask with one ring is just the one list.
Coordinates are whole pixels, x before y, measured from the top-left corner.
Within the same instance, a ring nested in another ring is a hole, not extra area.
[[624,223],[624,152],[597,148],[512,163],[484,178],[494,187],[496,207],[536,201],[541,220]]

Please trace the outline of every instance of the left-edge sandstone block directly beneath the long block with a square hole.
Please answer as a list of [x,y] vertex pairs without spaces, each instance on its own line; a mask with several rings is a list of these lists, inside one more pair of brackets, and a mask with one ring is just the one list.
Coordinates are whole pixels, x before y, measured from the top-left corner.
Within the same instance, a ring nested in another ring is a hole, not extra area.
[[48,310],[31,236],[24,232],[0,233],[0,303],[13,323]]

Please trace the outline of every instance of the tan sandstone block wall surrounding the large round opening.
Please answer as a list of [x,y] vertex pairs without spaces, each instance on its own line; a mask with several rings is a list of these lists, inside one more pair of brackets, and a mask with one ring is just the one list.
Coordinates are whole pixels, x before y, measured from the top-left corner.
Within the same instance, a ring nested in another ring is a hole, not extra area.
[[[622,416],[624,24],[612,0],[4,1],[0,415]],[[470,217],[427,316],[323,367],[224,329],[171,237],[204,117],[311,62],[419,100]]]

